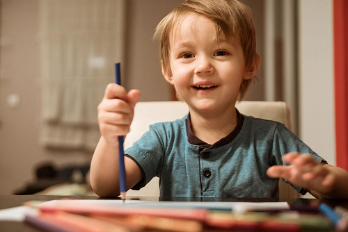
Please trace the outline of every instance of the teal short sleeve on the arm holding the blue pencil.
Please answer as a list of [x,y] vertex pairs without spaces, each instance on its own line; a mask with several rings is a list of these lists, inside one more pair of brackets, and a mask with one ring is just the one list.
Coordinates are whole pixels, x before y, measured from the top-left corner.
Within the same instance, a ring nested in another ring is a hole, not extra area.
[[143,134],[132,147],[125,150],[143,172],[143,180],[134,185],[133,190],[139,190],[148,184],[151,179],[158,176],[159,168],[163,163],[164,142],[159,136],[155,125],[150,125],[149,131]]

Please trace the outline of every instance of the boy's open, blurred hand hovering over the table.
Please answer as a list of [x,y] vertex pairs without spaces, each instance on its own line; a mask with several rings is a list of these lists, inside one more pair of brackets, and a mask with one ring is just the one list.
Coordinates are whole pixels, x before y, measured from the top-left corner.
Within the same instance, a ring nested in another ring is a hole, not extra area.
[[294,185],[307,190],[327,193],[333,190],[335,175],[330,172],[328,164],[318,163],[310,154],[288,153],[283,160],[289,166],[274,165],[269,167],[267,175],[271,178],[287,179]]

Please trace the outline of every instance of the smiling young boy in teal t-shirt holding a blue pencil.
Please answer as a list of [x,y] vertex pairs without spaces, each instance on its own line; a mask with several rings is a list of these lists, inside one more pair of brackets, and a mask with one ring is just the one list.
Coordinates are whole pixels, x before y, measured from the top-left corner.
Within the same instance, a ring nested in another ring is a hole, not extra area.
[[[189,114],[153,124],[125,151],[128,189],[159,176],[161,196],[278,197],[283,178],[302,194],[347,199],[348,172],[327,164],[283,124],[236,110],[260,65],[247,6],[184,1],[159,23],[155,38],[164,77]],[[102,137],[90,181],[101,197],[120,192],[117,138],[129,132],[139,99],[139,90],[110,84],[98,106]]]

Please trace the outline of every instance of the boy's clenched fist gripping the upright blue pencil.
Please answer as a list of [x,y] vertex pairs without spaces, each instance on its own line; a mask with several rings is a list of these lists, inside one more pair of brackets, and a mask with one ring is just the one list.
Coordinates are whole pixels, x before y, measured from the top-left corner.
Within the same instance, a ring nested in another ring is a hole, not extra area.
[[106,86],[104,98],[97,109],[100,133],[107,142],[116,142],[118,136],[129,132],[134,106],[140,97],[139,90],[127,93],[121,85],[111,83]]

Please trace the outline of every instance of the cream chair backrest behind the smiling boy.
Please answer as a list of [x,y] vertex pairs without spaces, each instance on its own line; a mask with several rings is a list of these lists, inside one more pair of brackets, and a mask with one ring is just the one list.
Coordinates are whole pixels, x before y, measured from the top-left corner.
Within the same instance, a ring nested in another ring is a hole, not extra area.
[[[240,113],[263,119],[281,122],[291,129],[290,108],[282,101],[241,101],[236,107]],[[182,101],[141,101],[134,109],[134,119],[131,130],[125,139],[125,148],[132,146],[148,126],[155,122],[173,121],[184,117],[189,112],[187,104]],[[128,196],[159,196],[159,178],[155,177],[139,191],[129,190]],[[299,194],[289,184],[279,181],[279,197],[293,198]]]

